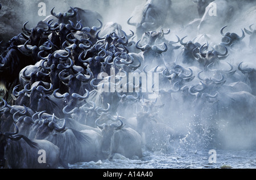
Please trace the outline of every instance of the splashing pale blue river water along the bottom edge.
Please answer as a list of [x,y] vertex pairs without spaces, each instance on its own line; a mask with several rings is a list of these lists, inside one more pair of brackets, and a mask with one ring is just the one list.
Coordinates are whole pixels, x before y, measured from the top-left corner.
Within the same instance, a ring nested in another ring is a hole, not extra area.
[[256,151],[216,149],[215,159],[209,151],[183,151],[175,153],[144,151],[140,159],[115,155],[113,160],[79,162],[72,169],[255,169]]

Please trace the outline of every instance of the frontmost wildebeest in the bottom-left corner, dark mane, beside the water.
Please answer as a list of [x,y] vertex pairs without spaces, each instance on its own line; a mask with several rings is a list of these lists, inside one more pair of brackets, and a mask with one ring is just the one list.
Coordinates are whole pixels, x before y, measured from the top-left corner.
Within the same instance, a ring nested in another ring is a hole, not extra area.
[[[41,151],[45,153],[40,159]],[[0,132],[0,165],[9,169],[58,168],[60,149],[47,140],[28,139],[15,132]],[[42,162],[41,162],[42,161]]]

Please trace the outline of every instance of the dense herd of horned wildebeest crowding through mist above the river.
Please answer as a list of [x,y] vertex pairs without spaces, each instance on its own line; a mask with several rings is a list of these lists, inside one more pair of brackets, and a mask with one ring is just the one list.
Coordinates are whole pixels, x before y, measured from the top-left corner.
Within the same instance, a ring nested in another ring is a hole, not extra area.
[[[222,40],[210,49],[208,40],[185,42],[171,39],[170,29],[150,29],[166,15],[148,2],[142,22],[127,20],[136,32],[78,7],[58,14],[52,8],[34,28],[23,24],[1,54],[1,168],[67,168],[115,153],[142,158],[144,149],[168,152],[206,136],[205,147],[223,148],[218,123],[251,127],[243,132],[255,142],[255,67],[227,60],[247,46],[246,35],[253,51],[253,25],[241,35],[221,28]],[[155,92],[142,91],[142,77],[129,81],[135,73],[158,74]],[[123,91],[100,91],[112,86]],[[38,161],[40,149],[46,163]]]

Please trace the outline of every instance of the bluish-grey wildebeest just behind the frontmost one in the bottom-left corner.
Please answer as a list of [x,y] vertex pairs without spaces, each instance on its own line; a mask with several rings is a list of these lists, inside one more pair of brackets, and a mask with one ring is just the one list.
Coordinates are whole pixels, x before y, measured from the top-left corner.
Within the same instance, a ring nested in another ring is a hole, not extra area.
[[64,165],[76,162],[97,161],[101,158],[101,135],[93,130],[77,131],[65,127],[65,120],[60,127],[52,118],[44,119],[33,133],[35,139],[45,139],[60,148],[60,158]]

